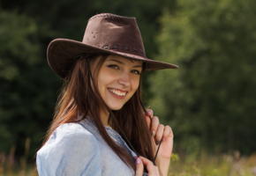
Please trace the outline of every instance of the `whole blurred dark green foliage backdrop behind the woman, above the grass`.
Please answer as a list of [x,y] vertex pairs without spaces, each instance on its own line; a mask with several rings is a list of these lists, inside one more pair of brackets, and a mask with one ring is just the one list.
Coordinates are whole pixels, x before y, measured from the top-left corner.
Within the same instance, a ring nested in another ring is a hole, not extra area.
[[144,98],[175,132],[175,150],[256,150],[256,3],[0,0],[0,153],[30,158],[51,121],[61,80],[49,69],[50,40],[81,40],[100,12],[135,16],[147,56],[180,66],[147,74]]

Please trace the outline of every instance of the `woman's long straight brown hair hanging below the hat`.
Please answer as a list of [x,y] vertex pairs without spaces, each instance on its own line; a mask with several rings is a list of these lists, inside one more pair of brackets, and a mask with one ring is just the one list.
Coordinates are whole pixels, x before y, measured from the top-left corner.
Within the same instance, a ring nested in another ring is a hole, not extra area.
[[120,110],[111,111],[102,100],[95,79],[91,74],[90,62],[97,57],[102,57],[95,69],[97,77],[102,63],[108,55],[82,55],[77,58],[77,62],[74,63],[71,72],[64,80],[63,91],[57,100],[55,115],[43,144],[47,142],[49,136],[58,126],[67,122],[78,122],[80,121],[78,119],[79,114],[84,114],[82,119],[87,118],[87,116],[92,118],[96,128],[98,128],[105,142],[109,144],[109,147],[117,153],[117,156],[126,165],[135,170],[134,158],[109,137],[99,118],[99,112],[100,107],[107,108],[110,114],[110,126],[117,130],[126,142],[128,140],[127,143],[132,144],[138,155],[153,161],[153,146],[150,131],[144,118],[146,111],[141,101],[140,84],[132,98]]

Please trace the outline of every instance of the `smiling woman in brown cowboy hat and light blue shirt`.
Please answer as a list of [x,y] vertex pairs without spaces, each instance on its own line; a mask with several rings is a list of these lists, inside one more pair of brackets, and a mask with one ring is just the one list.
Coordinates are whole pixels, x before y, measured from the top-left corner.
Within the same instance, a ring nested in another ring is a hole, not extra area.
[[37,151],[40,176],[168,175],[173,134],[142,105],[140,82],[177,66],[147,58],[135,18],[95,15],[82,42],[51,41],[48,62],[64,89]]

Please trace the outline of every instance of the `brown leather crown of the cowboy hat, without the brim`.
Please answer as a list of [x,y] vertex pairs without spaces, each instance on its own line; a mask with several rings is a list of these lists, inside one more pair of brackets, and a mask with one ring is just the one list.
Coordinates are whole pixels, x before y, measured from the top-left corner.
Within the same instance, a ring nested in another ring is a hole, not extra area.
[[83,43],[146,57],[136,18],[101,13],[89,18]]

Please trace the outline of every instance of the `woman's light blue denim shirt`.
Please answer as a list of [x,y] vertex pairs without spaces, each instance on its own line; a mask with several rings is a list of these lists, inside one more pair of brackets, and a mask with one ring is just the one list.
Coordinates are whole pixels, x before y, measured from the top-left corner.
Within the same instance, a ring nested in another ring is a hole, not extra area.
[[[113,128],[109,136],[136,157]],[[88,119],[60,125],[36,153],[39,176],[132,176],[131,167],[103,140],[94,122]]]

